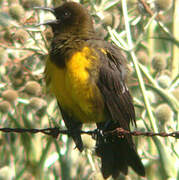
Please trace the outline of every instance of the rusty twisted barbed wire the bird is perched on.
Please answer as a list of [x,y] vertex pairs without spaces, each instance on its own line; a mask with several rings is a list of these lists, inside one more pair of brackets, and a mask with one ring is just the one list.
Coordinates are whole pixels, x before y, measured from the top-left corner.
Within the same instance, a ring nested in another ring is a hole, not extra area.
[[[4,133],[30,133],[30,134],[42,133],[42,134],[45,134],[45,135],[52,136],[54,138],[57,138],[59,134],[70,135],[72,133],[69,130],[62,130],[62,129],[58,128],[58,127],[45,128],[45,129],[0,128],[0,131],[4,132]],[[99,133],[99,130],[95,129],[95,130],[91,130],[91,131],[80,131],[80,133],[94,136],[97,133]],[[153,137],[153,136],[173,137],[173,138],[176,138],[176,139],[179,138],[179,131],[174,131],[174,132],[171,132],[171,133],[166,133],[166,132],[155,133],[155,132],[128,131],[128,130],[125,130],[123,128],[116,128],[116,129],[114,129],[112,131],[106,131],[106,132],[103,132],[103,133],[104,133],[105,136],[131,135],[131,136],[147,136],[147,137]]]

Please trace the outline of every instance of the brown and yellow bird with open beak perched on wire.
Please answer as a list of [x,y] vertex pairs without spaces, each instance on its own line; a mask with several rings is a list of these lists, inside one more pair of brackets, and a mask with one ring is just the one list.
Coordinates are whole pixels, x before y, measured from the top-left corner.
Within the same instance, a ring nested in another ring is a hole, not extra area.
[[132,96],[127,88],[126,57],[115,44],[98,37],[88,10],[76,2],[36,7],[50,11],[54,20],[40,25],[52,28],[53,38],[46,58],[45,81],[55,95],[66,128],[77,149],[84,149],[81,129],[95,123],[95,151],[101,159],[104,178],[116,179],[131,167],[145,176],[145,168],[131,135],[105,137],[116,128],[130,131],[136,124]]

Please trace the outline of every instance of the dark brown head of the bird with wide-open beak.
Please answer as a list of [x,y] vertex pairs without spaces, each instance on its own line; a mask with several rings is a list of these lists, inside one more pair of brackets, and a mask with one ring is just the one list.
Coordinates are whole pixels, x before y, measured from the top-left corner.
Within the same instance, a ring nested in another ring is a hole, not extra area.
[[52,12],[56,19],[43,23],[50,25],[55,34],[64,32],[83,34],[93,32],[93,23],[88,11],[79,3],[66,2],[57,8],[36,7]]

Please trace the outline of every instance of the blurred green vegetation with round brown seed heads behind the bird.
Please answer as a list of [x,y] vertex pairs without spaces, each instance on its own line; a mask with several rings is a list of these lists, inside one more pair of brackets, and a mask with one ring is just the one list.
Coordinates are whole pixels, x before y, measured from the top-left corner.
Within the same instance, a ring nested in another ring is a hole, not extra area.
[[[113,41],[130,64],[128,85],[140,131],[179,130],[179,1],[81,0],[94,16],[99,36]],[[53,16],[34,6],[58,0],[0,0],[0,124],[2,127],[65,128],[56,100],[46,94],[45,56],[52,32],[36,27]],[[86,125],[84,129],[95,128]],[[94,141],[84,135],[80,154],[66,135],[0,133],[0,179],[100,180]],[[146,178],[131,169],[119,179],[179,179],[179,143],[174,138],[135,138]]]

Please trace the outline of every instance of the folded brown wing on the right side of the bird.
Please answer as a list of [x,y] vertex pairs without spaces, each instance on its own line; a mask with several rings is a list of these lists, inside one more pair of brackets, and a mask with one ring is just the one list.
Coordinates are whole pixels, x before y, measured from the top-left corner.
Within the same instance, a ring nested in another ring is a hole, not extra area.
[[98,87],[112,120],[129,130],[129,123],[135,122],[135,111],[132,98],[126,87],[127,67],[125,57],[120,49],[106,44],[101,53]]

